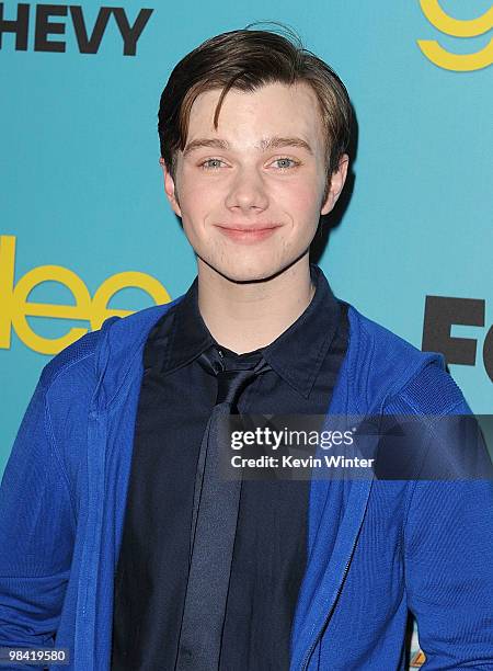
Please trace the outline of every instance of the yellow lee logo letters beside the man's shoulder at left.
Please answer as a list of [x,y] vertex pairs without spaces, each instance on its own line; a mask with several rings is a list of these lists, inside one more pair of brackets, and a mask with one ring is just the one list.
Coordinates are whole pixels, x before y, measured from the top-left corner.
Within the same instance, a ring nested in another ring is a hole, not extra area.
[[[0,348],[10,348],[13,327],[24,344],[41,354],[56,354],[74,342],[89,329],[70,328],[61,338],[43,338],[35,333],[26,317],[54,317],[55,319],[84,319],[93,330],[113,315],[125,317],[133,310],[108,309],[110,299],[122,288],[137,287],[147,292],[159,305],[171,300],[167,289],[146,273],[128,271],[112,275],[103,282],[91,298],[88,287],[74,272],[61,265],[38,265],[27,272],[14,286],[15,236],[0,236]],[[28,303],[33,288],[43,282],[58,282],[73,295],[74,305]]]

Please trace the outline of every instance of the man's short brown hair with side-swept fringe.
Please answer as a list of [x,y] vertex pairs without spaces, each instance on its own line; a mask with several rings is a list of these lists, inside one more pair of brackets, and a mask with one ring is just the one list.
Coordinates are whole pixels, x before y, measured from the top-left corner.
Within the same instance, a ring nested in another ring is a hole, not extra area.
[[352,107],[346,88],[334,70],[305,49],[293,30],[288,31],[291,36],[288,39],[271,31],[249,27],[210,37],[187,54],[171,72],[161,94],[158,132],[161,157],[173,180],[176,150],[185,148],[192,105],[200,93],[211,89],[222,89],[214,115],[217,128],[222,100],[229,89],[254,91],[274,82],[307,82],[319,101],[328,177],[337,169],[347,149]]

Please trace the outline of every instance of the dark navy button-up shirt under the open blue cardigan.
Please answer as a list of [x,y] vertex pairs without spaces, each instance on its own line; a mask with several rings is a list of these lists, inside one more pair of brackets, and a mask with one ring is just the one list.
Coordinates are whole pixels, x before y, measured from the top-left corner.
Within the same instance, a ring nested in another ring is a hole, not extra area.
[[[262,353],[272,369],[241,395],[252,414],[325,414],[347,346],[346,305],[310,265],[316,293]],[[186,592],[200,442],[217,378],[197,362],[217,343],[198,309],[198,280],[150,331],[122,547],[115,576],[113,671],[172,671]],[[244,480],[220,651],[221,671],[289,668],[306,569],[308,480]],[[214,671],[214,670],[211,670]]]

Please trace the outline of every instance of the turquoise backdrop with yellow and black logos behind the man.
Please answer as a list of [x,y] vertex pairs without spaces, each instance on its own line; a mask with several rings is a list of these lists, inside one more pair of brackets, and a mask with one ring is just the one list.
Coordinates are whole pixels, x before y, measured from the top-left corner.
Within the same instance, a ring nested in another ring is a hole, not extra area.
[[351,198],[317,259],[335,294],[443,352],[474,412],[493,411],[491,1],[9,0],[0,475],[47,361],[106,317],[165,303],[194,280],[163,192],[159,96],[186,53],[254,21],[295,29],[352,98]]

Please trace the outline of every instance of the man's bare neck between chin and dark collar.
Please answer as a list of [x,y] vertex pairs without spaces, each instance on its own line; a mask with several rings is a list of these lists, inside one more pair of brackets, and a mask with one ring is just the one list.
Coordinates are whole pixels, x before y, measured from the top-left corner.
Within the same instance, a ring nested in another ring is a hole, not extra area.
[[265,282],[236,283],[198,259],[198,308],[211,336],[242,354],[271,344],[313,298],[308,254]]

